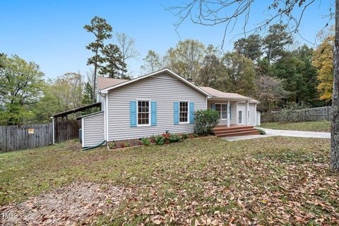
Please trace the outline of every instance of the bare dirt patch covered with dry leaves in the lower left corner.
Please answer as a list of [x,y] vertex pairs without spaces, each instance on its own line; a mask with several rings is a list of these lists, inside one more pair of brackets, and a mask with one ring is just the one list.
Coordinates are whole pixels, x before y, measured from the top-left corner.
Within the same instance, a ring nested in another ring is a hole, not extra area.
[[91,222],[109,208],[116,208],[127,189],[92,182],[74,182],[23,203],[0,209],[1,225],[74,225]]

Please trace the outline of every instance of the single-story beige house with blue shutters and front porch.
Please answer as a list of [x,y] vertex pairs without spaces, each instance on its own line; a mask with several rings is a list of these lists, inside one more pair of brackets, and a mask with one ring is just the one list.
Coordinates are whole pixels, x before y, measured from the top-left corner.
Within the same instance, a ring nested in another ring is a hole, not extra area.
[[256,116],[258,101],[199,87],[169,69],[131,80],[99,77],[97,84],[102,111],[81,117],[83,147],[165,131],[193,133],[198,109],[220,112],[220,128],[225,129],[239,125],[246,129],[260,121]]

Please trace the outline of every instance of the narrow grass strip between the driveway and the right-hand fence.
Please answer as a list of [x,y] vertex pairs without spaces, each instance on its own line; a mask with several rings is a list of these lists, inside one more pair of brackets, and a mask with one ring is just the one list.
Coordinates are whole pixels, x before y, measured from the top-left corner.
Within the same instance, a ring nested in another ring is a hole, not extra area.
[[297,131],[316,131],[316,132],[330,132],[331,121],[303,121],[293,123],[263,123],[260,125],[267,129],[283,129],[283,130],[297,130]]

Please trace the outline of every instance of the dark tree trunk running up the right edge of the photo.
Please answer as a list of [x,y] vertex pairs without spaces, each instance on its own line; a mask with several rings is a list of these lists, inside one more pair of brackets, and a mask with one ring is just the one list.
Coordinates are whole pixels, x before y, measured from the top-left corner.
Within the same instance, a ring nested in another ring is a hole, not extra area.
[[331,170],[339,172],[339,0],[335,0],[335,40],[333,56],[333,119],[331,126]]

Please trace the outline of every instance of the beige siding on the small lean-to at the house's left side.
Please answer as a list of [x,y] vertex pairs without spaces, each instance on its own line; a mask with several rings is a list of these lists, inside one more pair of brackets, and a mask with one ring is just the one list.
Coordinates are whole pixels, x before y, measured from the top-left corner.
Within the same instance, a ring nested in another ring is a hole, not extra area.
[[83,147],[98,145],[105,141],[104,112],[83,117]]

